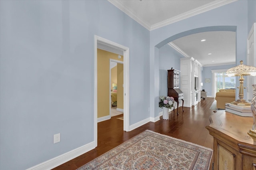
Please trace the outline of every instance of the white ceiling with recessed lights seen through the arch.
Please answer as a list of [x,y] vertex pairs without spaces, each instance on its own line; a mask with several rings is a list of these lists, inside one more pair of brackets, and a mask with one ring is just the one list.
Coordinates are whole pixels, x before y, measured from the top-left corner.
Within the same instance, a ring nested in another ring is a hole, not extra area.
[[[201,42],[203,39],[206,41]],[[202,32],[179,38],[172,43],[204,67],[236,63],[235,32]]]

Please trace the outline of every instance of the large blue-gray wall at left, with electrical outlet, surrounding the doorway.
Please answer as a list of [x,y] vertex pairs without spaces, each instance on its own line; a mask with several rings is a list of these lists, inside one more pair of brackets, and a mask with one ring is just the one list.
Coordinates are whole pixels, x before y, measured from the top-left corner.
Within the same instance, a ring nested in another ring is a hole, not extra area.
[[0,1],[1,170],[94,141],[94,35],[130,48],[130,125],[149,118],[146,28],[108,1]]

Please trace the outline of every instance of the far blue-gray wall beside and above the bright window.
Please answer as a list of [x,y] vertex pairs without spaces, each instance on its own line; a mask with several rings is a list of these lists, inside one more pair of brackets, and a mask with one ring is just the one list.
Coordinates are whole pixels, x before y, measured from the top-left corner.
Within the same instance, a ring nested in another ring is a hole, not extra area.
[[[212,93],[212,70],[220,70],[220,69],[230,69],[232,67],[235,67],[236,65],[220,65],[220,66],[211,66],[211,67],[203,67],[202,72],[202,82],[203,86],[202,89],[204,89],[207,92],[208,97],[215,97],[215,94]],[[210,83],[205,83],[204,79],[210,78]]]

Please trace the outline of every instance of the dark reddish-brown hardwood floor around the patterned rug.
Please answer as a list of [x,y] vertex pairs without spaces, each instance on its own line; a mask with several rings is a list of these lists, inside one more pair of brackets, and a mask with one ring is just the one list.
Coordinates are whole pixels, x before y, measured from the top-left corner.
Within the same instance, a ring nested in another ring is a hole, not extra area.
[[[176,110],[172,111],[169,113],[169,120],[163,120],[161,116],[160,121],[146,123],[130,132],[123,131],[123,121],[116,119],[120,115],[100,122],[98,123],[98,146],[54,170],[75,170],[147,129],[213,149],[213,137],[205,128],[210,125],[209,117],[213,113],[210,107],[213,101],[214,98],[207,98],[192,108],[184,107],[183,113],[182,107],[179,107],[179,115],[176,114]],[[212,169],[212,163],[210,169]]]

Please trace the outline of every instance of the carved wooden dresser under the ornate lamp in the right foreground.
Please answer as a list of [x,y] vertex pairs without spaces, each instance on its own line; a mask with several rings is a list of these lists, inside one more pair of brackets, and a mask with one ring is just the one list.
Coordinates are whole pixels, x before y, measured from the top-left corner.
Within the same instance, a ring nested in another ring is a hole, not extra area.
[[206,126],[214,137],[214,170],[256,170],[256,138],[247,134],[253,118],[214,112]]

